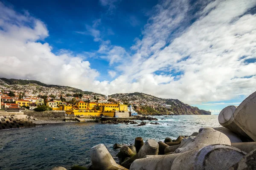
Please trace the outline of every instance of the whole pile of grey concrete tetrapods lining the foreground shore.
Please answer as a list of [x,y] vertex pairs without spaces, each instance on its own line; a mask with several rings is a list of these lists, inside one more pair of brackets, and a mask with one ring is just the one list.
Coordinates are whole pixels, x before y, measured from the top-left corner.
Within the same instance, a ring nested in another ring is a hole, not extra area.
[[[90,149],[89,170],[255,170],[256,92],[218,116],[222,127],[202,127],[189,136],[162,141],[141,137],[134,145],[114,144],[117,164],[104,144]],[[83,167],[85,168],[85,167]],[[54,170],[65,170],[54,167]]]

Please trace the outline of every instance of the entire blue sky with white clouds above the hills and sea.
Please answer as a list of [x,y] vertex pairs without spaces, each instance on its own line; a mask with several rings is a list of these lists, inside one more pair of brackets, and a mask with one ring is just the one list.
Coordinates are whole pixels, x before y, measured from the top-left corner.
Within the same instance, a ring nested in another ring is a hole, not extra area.
[[0,77],[215,114],[256,91],[256,0],[0,0],[0,63]]

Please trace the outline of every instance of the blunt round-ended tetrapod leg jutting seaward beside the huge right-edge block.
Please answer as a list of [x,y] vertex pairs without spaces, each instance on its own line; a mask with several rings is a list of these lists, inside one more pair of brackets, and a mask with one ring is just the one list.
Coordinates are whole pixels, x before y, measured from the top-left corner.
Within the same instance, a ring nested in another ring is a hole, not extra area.
[[[250,138],[244,130],[242,130],[236,123],[234,122],[234,113],[236,111],[237,106],[227,106],[226,108],[222,109],[219,116],[218,121],[221,126],[224,126],[234,133],[238,134],[239,136],[244,136],[246,138]],[[244,115],[245,116],[245,115]]]

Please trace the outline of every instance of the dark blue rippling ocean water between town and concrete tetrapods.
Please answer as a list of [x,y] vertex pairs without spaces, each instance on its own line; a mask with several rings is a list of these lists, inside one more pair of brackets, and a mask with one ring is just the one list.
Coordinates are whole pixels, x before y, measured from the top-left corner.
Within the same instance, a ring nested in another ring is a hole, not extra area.
[[180,135],[191,135],[200,127],[220,126],[218,115],[155,117],[158,121],[144,122],[159,122],[161,125],[134,127],[130,124],[81,122],[0,130],[0,170],[50,170],[54,166],[70,169],[73,165],[88,167],[90,148],[99,143],[105,144],[114,157],[118,150],[113,150],[113,144],[133,144],[138,136],[144,141],[163,141],[166,137],[176,139]]

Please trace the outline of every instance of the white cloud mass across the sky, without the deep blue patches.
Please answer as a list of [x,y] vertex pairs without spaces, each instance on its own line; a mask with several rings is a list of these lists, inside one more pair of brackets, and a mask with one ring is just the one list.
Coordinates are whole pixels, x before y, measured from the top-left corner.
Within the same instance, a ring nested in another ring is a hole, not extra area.
[[[111,2],[102,0],[101,4],[109,8]],[[99,73],[83,56],[70,51],[53,54],[49,44],[37,42],[49,35],[44,23],[2,5],[0,58],[5,64],[0,76],[102,94],[140,91],[189,104],[229,100],[256,91],[256,63],[246,62],[256,57],[256,14],[246,13],[256,1],[201,0],[196,5],[201,6],[196,18],[191,16],[195,6],[186,0],[155,6],[131,53],[104,41],[96,31],[99,21],[89,26],[87,31],[100,42],[99,50],[84,54],[108,60],[118,75],[109,73],[113,81],[96,80]],[[15,24],[8,22],[14,19]]]

